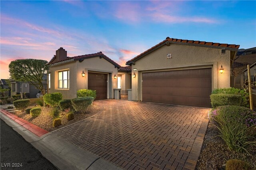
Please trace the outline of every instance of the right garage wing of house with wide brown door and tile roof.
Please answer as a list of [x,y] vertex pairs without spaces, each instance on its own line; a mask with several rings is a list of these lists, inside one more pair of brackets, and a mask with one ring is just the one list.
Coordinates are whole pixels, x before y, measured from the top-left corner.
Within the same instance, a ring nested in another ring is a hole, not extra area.
[[230,87],[238,48],[167,37],[126,63],[132,66],[132,100],[211,107],[212,90]]

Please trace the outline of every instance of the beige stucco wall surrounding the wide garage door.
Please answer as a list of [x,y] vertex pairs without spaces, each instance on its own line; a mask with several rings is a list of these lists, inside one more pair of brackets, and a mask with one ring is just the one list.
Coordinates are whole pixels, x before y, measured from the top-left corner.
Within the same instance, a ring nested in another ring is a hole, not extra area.
[[[167,54],[172,59],[167,59]],[[224,72],[220,73],[221,65]],[[164,45],[132,64],[137,68],[136,77],[132,77],[132,100],[142,100],[142,72],[212,68],[212,90],[230,87],[230,51],[221,54],[221,49],[191,45]]]

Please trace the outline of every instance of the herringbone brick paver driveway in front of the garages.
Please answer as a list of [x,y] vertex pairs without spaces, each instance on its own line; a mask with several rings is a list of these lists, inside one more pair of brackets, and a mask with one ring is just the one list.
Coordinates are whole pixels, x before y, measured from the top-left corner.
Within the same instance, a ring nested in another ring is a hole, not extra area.
[[194,169],[209,109],[127,100],[95,101],[101,113],[53,131],[55,135],[132,169]]

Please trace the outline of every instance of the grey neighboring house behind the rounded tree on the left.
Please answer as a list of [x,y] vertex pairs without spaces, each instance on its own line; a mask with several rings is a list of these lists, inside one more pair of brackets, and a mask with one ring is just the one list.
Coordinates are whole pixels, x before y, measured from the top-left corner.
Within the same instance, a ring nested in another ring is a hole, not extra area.
[[[44,74],[43,76],[43,86],[45,89],[47,89],[46,84],[46,77],[47,75]],[[20,93],[26,93],[26,96],[28,98],[36,98],[36,94],[40,92],[34,85],[28,83],[28,82],[16,82],[15,80],[10,80],[11,82],[11,94],[16,95]]]

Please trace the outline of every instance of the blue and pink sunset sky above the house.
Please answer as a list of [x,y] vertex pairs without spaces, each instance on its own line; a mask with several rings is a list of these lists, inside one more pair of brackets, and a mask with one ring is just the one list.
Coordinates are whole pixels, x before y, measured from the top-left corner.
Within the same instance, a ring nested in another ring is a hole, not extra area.
[[122,66],[166,37],[256,47],[256,1],[0,1],[0,78],[15,59],[102,51]]

